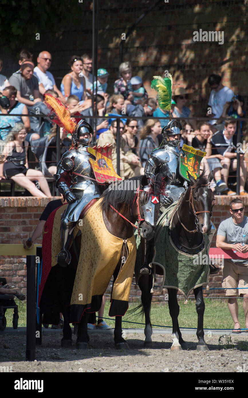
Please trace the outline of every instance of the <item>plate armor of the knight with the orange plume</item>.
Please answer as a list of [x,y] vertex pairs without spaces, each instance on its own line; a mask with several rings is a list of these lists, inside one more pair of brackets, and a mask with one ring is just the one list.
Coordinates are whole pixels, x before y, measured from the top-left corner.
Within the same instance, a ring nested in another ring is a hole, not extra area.
[[62,266],[70,263],[70,253],[66,250],[70,241],[70,229],[75,226],[84,207],[102,194],[101,185],[95,180],[89,162],[90,158],[94,159],[94,156],[87,152],[90,137],[79,139],[80,135],[85,133],[93,134],[93,130],[86,121],[81,120],[76,126],[75,134],[72,135],[76,149],[63,154],[55,174],[56,187],[68,202],[61,219],[61,252],[58,254],[58,263]]

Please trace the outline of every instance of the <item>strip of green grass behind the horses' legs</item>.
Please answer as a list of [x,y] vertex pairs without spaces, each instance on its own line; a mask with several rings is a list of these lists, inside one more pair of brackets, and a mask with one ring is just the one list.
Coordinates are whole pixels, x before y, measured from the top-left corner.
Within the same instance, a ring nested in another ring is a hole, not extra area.
[[[232,329],[234,327],[232,317],[228,310],[227,299],[213,300],[211,298],[205,298],[205,313],[204,313],[204,329]],[[18,304],[18,326],[26,326],[26,301],[16,300]],[[137,307],[139,303],[131,303],[129,310]],[[188,300],[187,304],[184,304],[184,300],[178,301],[180,306],[180,314],[178,322],[181,328],[197,328],[197,313],[195,310],[195,300]],[[110,303],[107,300],[105,304],[104,317],[109,318]],[[244,323],[244,310],[243,300],[238,298],[238,313],[240,320],[240,327],[245,328]],[[6,311],[7,326],[12,327],[12,314],[11,309]],[[114,328],[115,318],[105,319],[107,324]],[[123,317],[123,328],[144,328],[142,324],[134,324],[129,322],[141,322],[145,323],[145,318],[142,320],[137,314],[130,315],[129,312]],[[169,314],[169,307],[167,303],[152,303],[151,308],[151,322],[153,325],[169,326],[172,327],[172,320]],[[158,326],[154,326],[158,328]]]

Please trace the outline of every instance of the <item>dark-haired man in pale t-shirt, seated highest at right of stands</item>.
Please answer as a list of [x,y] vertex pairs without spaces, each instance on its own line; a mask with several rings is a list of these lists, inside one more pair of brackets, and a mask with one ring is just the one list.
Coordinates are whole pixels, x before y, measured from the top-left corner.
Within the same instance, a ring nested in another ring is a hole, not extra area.
[[221,115],[223,113],[225,103],[232,101],[234,92],[230,88],[223,86],[221,83],[221,76],[217,74],[211,74],[207,82],[211,88],[208,101],[208,107],[211,107],[211,114],[207,112],[206,116],[209,117],[209,123],[211,125],[215,125],[215,131],[217,131],[224,128],[223,125],[221,125]]

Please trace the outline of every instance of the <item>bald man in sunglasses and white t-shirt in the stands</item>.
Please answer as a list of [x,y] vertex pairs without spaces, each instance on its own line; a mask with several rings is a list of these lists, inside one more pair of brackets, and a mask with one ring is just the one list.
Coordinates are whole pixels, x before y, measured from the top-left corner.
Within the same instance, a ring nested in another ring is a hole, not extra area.
[[37,66],[33,70],[33,74],[39,80],[39,92],[41,96],[46,90],[54,90],[58,93],[59,99],[64,100],[62,93],[55,84],[55,80],[51,72],[47,72],[52,62],[52,56],[48,51],[41,51],[37,58]]

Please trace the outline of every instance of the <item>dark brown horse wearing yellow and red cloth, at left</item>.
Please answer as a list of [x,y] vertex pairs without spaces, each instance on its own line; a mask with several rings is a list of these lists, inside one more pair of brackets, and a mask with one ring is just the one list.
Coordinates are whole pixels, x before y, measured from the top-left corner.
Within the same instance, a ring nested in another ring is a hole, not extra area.
[[[149,207],[149,222],[146,222],[148,213],[145,211],[145,207],[142,206],[143,203],[141,201],[141,191],[143,191],[144,186],[148,184],[147,178],[143,176],[142,178],[132,178],[127,181],[130,181],[129,185],[127,185],[126,181],[125,184],[123,184],[123,181],[120,181],[117,183],[116,187],[112,185],[106,189],[101,196],[101,209],[105,227],[107,228],[108,232],[117,238],[127,240],[133,236],[134,224],[138,221],[138,228],[140,230],[141,236],[143,236],[143,238],[146,240],[149,240],[154,236],[154,225],[156,224],[159,206]],[[127,187],[129,187],[129,189],[127,189]],[[152,219],[151,216],[153,217]],[[82,237],[81,239],[81,234],[78,234],[70,248],[70,253],[72,256],[70,265],[66,268],[56,265],[51,269],[47,280],[47,287],[45,287],[43,297],[41,298],[41,312],[46,314],[46,311],[51,310],[51,308],[49,308],[50,302],[52,300],[56,300],[56,297],[58,297],[57,313],[58,311],[61,311],[64,317],[63,338],[61,340],[62,347],[69,347],[72,345],[72,331],[70,328],[70,322],[75,321],[70,319],[69,305],[80,250],[84,251],[85,249],[84,238]],[[113,284],[122,267],[123,256],[127,258],[128,254],[127,245],[123,243],[120,258],[113,273]],[[53,286],[52,290],[51,286]],[[55,289],[57,292],[56,294]],[[50,295],[49,299],[46,298],[47,295]],[[101,304],[102,296],[99,295],[94,296],[94,303],[91,302],[87,305],[78,305],[79,308],[77,308],[77,310],[79,311],[79,316],[76,348],[87,349],[89,347],[87,323],[90,314],[87,312],[87,310],[89,312],[97,312],[100,309]],[[122,308],[117,308],[117,311],[119,311],[118,314],[124,314],[127,310],[126,307],[128,308],[128,303],[124,302]],[[55,322],[53,322],[50,318],[50,320],[43,320],[43,323]],[[122,338],[121,324],[122,316],[115,316],[114,341],[115,347],[117,349],[128,348],[127,342]]]

